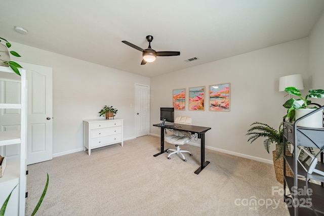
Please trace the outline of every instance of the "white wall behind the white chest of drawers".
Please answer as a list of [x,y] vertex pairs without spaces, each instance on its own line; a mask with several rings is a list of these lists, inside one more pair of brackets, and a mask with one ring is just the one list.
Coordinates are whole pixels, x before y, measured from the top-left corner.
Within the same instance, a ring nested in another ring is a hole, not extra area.
[[99,118],[104,105],[124,118],[124,139],[135,138],[135,83],[150,85],[148,77],[11,43],[22,56],[13,60],[53,68],[54,156],[83,148],[83,119]]

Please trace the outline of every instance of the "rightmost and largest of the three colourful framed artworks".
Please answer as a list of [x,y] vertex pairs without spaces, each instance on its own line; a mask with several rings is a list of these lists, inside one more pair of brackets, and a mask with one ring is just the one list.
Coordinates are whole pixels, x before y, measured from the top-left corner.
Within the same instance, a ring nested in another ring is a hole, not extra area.
[[209,86],[209,111],[230,110],[230,83]]

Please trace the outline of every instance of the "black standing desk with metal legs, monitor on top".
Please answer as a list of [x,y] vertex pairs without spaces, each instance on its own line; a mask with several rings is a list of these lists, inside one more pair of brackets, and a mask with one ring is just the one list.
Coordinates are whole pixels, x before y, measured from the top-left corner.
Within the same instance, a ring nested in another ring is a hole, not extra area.
[[189,132],[192,135],[193,134],[198,135],[198,139],[200,139],[200,164],[201,164],[201,166],[194,173],[199,174],[199,172],[201,170],[203,170],[210,163],[209,161],[205,161],[205,133],[212,128],[189,125],[189,124],[177,124],[177,123],[170,123],[170,122],[167,122],[165,126],[161,126],[161,124],[153,124],[153,126],[157,126],[157,127],[161,128],[161,151],[157,154],[154,154],[153,155],[154,157],[168,151],[168,149],[164,150],[164,129],[168,128],[167,127],[168,125],[176,126],[176,128],[172,128],[172,129],[176,129],[178,131]]

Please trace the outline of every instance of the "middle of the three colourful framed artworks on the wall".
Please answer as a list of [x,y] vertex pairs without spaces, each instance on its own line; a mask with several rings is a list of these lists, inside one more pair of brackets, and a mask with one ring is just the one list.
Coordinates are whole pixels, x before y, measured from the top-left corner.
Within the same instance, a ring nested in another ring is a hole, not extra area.
[[189,110],[205,110],[205,87],[189,88]]

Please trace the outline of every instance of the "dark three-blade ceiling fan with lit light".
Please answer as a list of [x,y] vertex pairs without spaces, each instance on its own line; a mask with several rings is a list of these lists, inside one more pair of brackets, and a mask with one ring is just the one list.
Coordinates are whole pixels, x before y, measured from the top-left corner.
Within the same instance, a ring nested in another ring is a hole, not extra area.
[[156,59],[156,56],[180,56],[180,52],[174,52],[174,51],[162,51],[162,52],[156,52],[151,48],[151,42],[153,40],[153,36],[147,35],[146,39],[148,41],[148,48],[147,49],[142,49],[140,47],[137,47],[136,45],[131,44],[130,42],[123,40],[124,44],[127,44],[128,46],[139,50],[143,52],[143,60],[141,62],[141,65],[145,65],[147,62],[153,62]]

